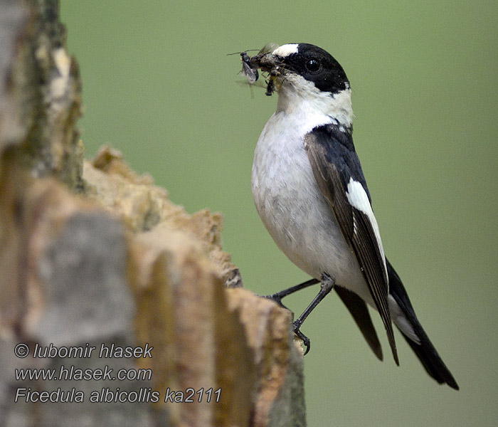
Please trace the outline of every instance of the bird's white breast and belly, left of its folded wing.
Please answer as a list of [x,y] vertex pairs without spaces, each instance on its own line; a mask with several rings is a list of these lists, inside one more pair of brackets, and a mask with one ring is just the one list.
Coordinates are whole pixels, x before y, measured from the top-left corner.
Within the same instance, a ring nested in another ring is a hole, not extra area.
[[290,132],[290,120],[275,113],[258,140],[252,174],[258,214],[292,263],[313,278],[328,273],[373,305],[356,257],[314,180],[302,141],[310,129],[296,133],[293,126]]

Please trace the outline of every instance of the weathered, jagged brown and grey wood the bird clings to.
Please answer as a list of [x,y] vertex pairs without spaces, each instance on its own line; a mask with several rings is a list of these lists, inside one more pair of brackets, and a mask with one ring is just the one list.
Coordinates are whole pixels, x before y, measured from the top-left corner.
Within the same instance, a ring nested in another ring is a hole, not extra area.
[[[242,288],[221,215],[187,214],[112,149],[84,162],[79,116],[58,2],[2,1],[0,425],[304,426],[290,313]],[[145,357],[99,354],[112,344]],[[16,380],[16,369],[57,379]],[[116,379],[120,369],[152,375]],[[35,391],[58,403],[26,396]]]

